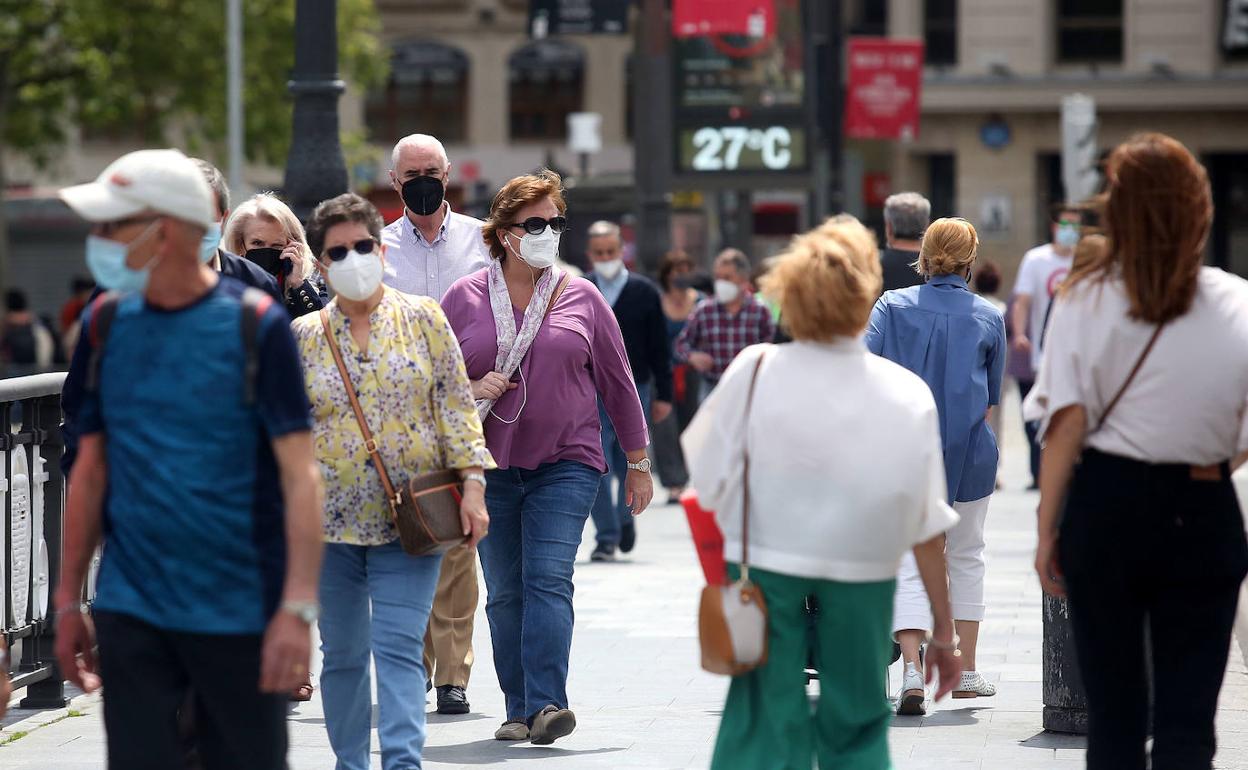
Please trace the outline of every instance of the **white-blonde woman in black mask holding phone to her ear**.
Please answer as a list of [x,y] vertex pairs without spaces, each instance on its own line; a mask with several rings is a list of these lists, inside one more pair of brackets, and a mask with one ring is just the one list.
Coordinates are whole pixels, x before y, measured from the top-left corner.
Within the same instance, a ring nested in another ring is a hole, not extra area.
[[292,317],[321,309],[329,301],[303,225],[272,192],[256,193],[230,213],[221,247],[273,276]]

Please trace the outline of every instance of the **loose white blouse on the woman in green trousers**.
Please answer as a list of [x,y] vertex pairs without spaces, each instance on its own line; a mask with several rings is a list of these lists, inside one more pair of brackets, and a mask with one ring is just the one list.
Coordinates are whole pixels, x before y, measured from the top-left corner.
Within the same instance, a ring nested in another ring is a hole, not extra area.
[[[745,424],[755,361],[766,358]],[[957,523],[945,500],[936,402],[860,339],[746,348],[680,442],[700,504],[741,554],[750,444],[750,564],[804,578],[896,577],[901,555]]]

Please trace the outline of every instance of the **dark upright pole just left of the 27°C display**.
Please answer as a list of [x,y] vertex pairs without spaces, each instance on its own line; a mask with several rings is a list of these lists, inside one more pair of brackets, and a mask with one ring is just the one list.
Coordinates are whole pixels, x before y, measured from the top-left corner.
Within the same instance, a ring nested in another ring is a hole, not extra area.
[[636,256],[655,275],[671,243],[671,29],[666,0],[641,0],[633,77]]

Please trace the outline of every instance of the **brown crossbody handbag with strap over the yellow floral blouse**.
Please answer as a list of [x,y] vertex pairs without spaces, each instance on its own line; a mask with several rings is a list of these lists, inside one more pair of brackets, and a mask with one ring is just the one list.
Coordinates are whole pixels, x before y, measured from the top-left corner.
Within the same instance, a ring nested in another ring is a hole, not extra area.
[[364,448],[373,458],[373,467],[377,468],[382,487],[386,489],[386,502],[389,503],[391,515],[398,527],[403,550],[413,557],[427,557],[446,553],[468,542],[463,520],[459,518],[459,500],[463,499],[463,479],[459,478],[459,472],[431,470],[413,475],[398,487],[391,483],[386,462],[377,451],[373,432],[368,429],[368,421],[364,419],[364,411],[359,407],[356,387],[351,383],[351,374],[347,373],[347,364],[342,361],[342,351],[333,336],[333,327],[329,326],[328,308],[321,309],[321,326],[324,327],[333,362],[338,364],[342,384],[347,388],[347,398],[356,413],[356,422],[359,423],[359,433],[364,437]]

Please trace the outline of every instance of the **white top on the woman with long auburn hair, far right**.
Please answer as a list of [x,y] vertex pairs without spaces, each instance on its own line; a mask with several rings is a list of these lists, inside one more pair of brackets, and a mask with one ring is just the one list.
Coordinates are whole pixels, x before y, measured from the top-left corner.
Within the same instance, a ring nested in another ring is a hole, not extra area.
[[1248,451],[1248,281],[1201,270],[1192,308],[1162,329],[1101,429],[1101,414],[1157,328],[1127,317],[1121,280],[1060,297],[1036,386],[1023,404],[1041,433],[1070,406],[1087,411],[1088,447],[1147,463],[1208,465]]

